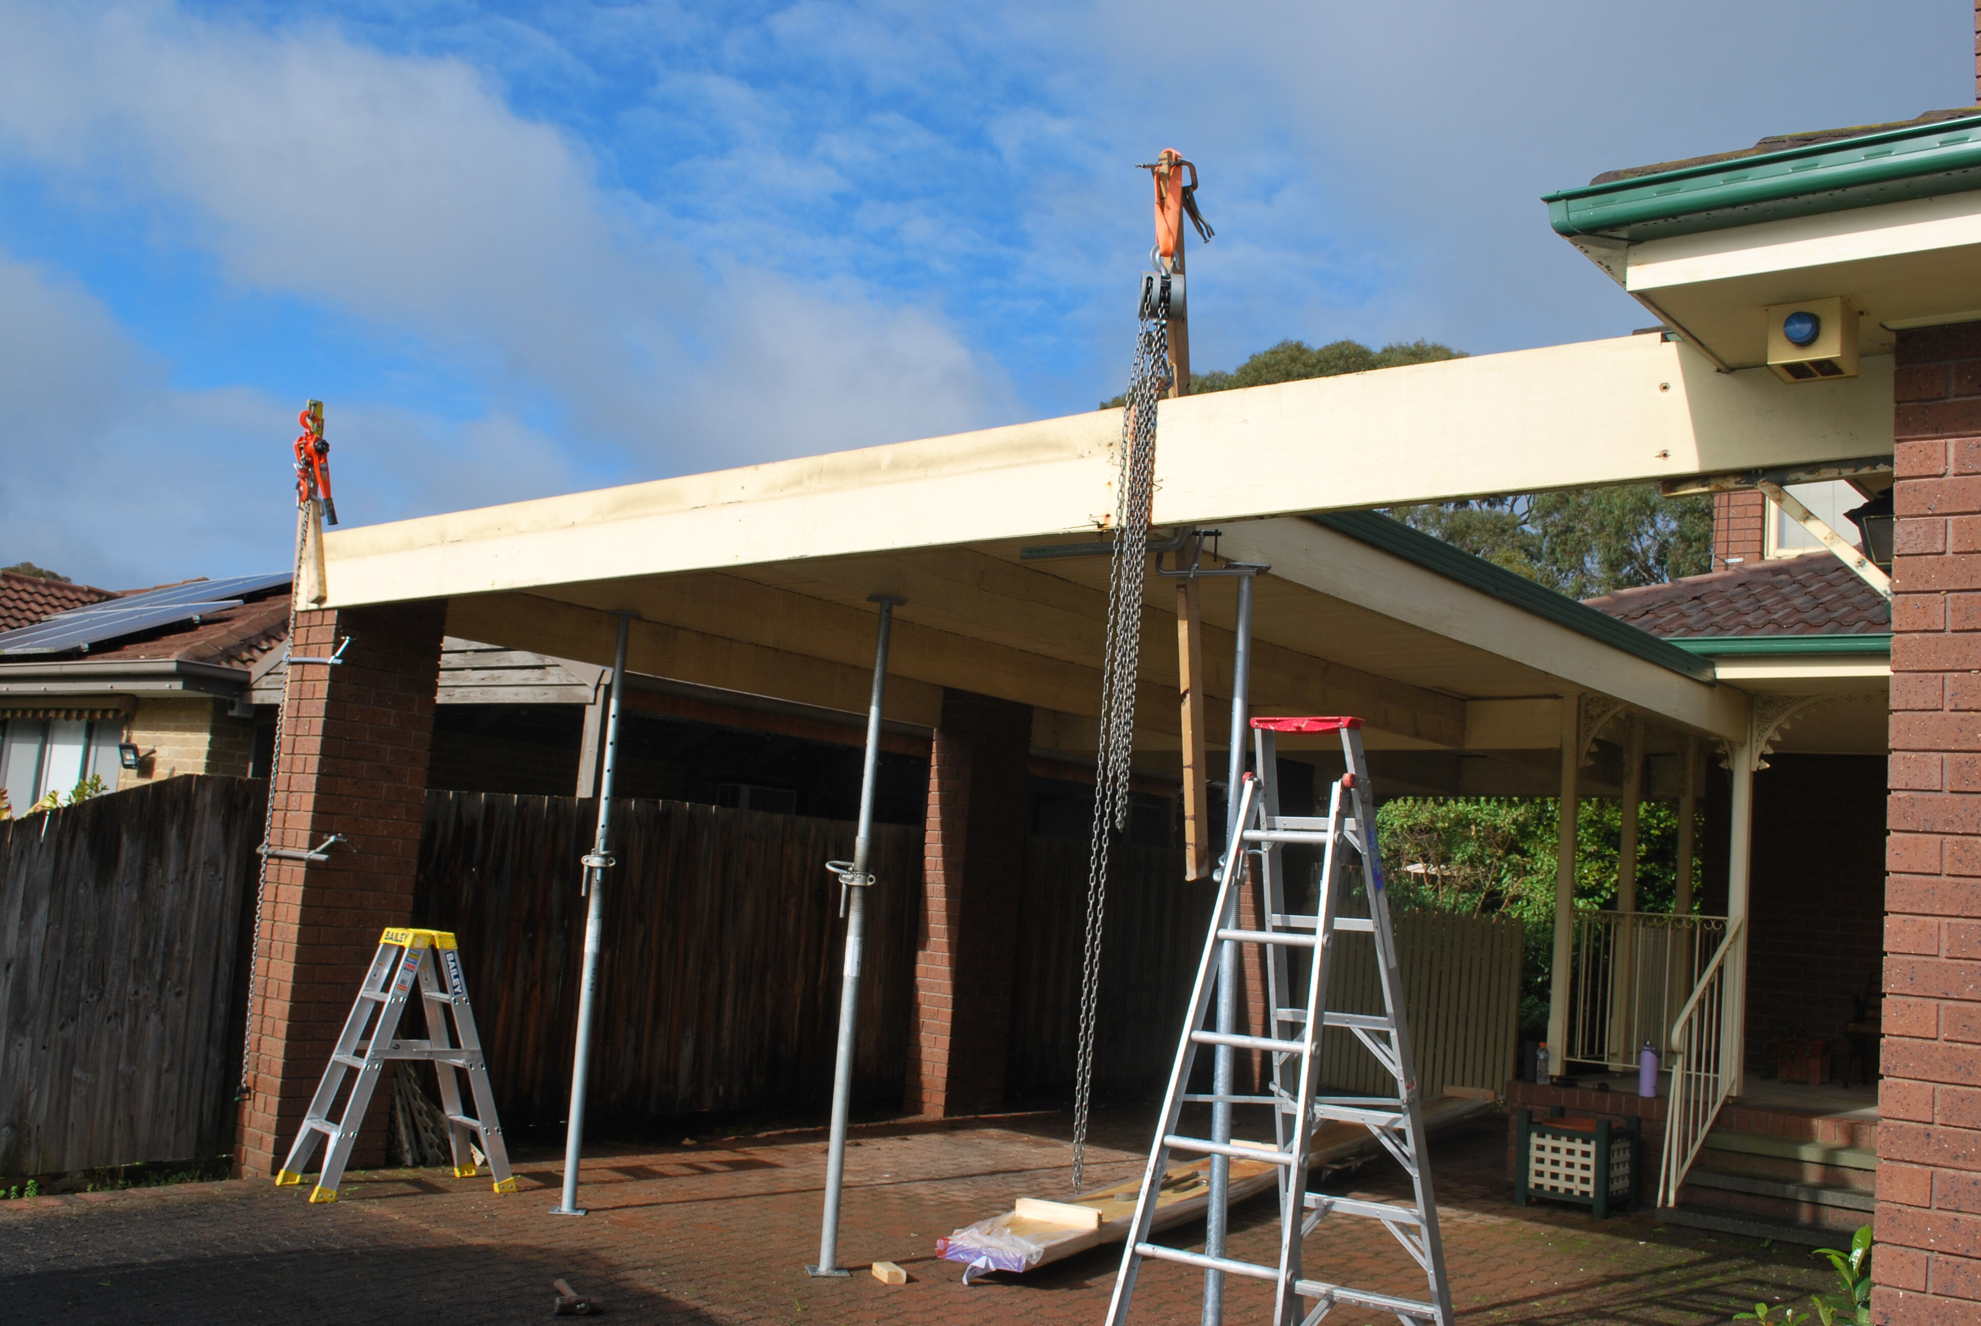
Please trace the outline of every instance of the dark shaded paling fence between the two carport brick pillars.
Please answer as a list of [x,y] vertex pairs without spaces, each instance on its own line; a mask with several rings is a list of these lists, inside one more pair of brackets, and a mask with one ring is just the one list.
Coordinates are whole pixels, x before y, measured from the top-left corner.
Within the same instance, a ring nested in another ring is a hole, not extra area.
[[[507,1128],[561,1124],[596,801],[428,793],[414,918],[456,932]],[[832,1098],[842,961],[826,860],[854,825],[678,801],[614,805],[594,1120]],[[878,825],[854,1094],[895,1106],[913,1007],[921,830]]]

